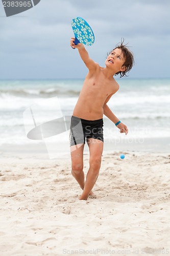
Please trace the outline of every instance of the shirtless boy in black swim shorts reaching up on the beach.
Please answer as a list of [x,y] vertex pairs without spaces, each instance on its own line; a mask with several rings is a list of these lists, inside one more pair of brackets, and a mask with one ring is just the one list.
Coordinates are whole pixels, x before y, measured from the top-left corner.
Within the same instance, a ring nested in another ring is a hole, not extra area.
[[[88,68],[84,84],[71,117],[70,124],[70,151],[71,173],[77,180],[83,193],[80,200],[87,200],[94,196],[92,188],[98,179],[103,152],[103,114],[107,116],[120,130],[128,134],[128,128],[109,109],[107,102],[118,89],[118,83],[113,75],[126,76],[133,65],[133,54],[121,42],[108,55],[105,68],[99,66],[88,55],[83,44],[74,44],[75,38],[71,37],[70,46],[77,48],[80,57]],[[89,170],[84,179],[83,150],[85,138],[89,147]]]

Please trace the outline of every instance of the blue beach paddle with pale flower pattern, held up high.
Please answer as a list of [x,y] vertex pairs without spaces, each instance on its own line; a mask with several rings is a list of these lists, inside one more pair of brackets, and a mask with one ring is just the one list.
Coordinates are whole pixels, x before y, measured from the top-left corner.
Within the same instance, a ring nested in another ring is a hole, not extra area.
[[[81,17],[72,19],[72,30],[75,34],[75,45],[82,43],[86,46],[91,46],[94,42],[94,33],[86,20]],[[72,48],[75,49],[75,48]]]

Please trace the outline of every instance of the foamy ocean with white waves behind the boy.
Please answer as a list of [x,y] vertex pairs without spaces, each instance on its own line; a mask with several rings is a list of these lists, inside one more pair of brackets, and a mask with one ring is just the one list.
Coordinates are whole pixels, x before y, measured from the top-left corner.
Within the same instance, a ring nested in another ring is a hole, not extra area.
[[[170,138],[170,79],[116,80],[120,89],[111,97],[108,106],[128,126],[129,133],[127,136],[120,134],[114,123],[104,116],[105,142],[116,144],[122,138],[138,144],[145,139],[167,141],[166,138]],[[27,128],[32,121],[23,118],[23,113],[33,104],[43,104],[45,100],[50,102],[51,98],[56,97],[63,116],[71,116],[82,85],[83,79],[1,80],[1,148],[7,144],[27,146],[40,143],[39,140],[27,138]],[[45,122],[51,114],[55,117],[56,109],[46,106],[39,122]],[[67,137],[62,135],[61,139],[67,140]],[[157,146],[163,147],[163,143]]]

